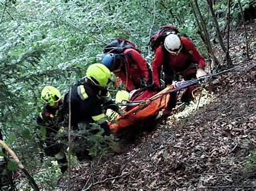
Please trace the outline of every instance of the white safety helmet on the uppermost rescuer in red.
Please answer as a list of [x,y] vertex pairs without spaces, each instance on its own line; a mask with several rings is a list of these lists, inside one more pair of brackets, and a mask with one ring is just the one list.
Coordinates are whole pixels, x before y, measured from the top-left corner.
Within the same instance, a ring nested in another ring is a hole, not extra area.
[[164,47],[168,52],[178,54],[182,48],[179,36],[177,34],[169,34],[165,37]]

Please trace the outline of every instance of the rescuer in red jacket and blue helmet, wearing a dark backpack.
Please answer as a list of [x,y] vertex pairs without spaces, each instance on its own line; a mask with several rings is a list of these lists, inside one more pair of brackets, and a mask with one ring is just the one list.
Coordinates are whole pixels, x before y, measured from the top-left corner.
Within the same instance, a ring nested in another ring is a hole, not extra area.
[[[117,45],[122,46],[116,48],[118,51],[109,51]],[[111,53],[104,55],[102,63],[122,81],[127,91],[143,88],[150,83],[149,66],[134,44],[119,38],[109,46],[110,48],[106,49]]]

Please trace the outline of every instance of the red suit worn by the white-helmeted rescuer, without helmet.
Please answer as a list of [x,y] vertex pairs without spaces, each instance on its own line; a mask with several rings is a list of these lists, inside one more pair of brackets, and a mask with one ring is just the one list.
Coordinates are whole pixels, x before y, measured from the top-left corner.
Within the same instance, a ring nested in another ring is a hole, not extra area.
[[[175,75],[180,73],[184,80],[191,80],[193,77],[196,77],[196,68],[189,69],[191,63],[196,63],[199,68],[205,68],[205,60],[203,56],[198,52],[197,48],[193,43],[185,38],[180,37],[182,49],[178,54],[169,53],[163,45],[160,45],[156,48],[156,55],[152,62],[152,77],[153,82],[160,87],[160,69],[163,66],[165,73],[165,83],[170,84],[175,79]],[[188,88],[184,93],[184,100],[192,96],[192,91],[194,87]],[[175,107],[176,105],[176,93],[171,95],[168,107],[169,110]]]

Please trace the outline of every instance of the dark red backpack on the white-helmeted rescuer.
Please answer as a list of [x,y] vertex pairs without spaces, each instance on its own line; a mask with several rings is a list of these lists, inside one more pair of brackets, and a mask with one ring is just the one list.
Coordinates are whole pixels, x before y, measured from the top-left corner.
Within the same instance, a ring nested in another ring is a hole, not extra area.
[[176,26],[161,26],[160,30],[156,34],[154,34],[149,41],[149,45],[151,45],[152,51],[156,52],[156,49],[164,42],[165,37],[167,37],[170,33],[178,34],[178,32],[179,31]]

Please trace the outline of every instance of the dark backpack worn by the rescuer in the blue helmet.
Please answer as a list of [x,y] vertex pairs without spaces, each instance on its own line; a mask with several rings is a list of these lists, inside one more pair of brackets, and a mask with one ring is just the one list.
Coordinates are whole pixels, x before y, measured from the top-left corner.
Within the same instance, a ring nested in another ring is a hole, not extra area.
[[127,48],[136,49],[136,51],[140,53],[136,45],[123,38],[117,38],[116,40],[113,40],[111,43],[107,44],[103,49],[103,53],[122,54]]

